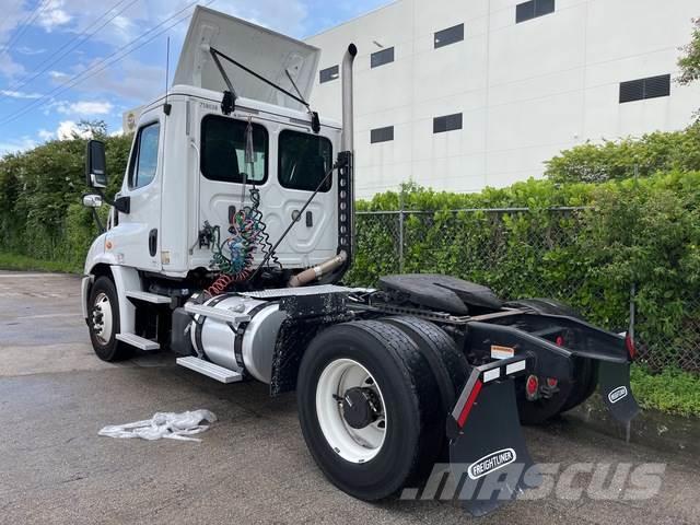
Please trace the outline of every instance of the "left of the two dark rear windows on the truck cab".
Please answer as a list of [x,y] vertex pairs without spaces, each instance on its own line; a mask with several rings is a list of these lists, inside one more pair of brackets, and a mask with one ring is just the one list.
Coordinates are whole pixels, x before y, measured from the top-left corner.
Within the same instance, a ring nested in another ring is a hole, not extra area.
[[253,164],[245,162],[248,122],[219,115],[201,120],[201,173],[210,180],[262,184],[267,179],[267,130],[252,124]]

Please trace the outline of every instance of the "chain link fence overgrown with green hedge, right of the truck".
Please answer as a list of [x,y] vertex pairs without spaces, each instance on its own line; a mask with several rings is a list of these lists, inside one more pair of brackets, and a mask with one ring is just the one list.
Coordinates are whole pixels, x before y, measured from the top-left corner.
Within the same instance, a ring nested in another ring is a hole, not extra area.
[[[668,322],[646,315],[635,284],[586,261],[588,208],[359,211],[348,280],[373,285],[383,275],[435,272],[489,285],[504,300],[553,298],[592,323],[634,330],[640,359],[654,370],[700,372],[700,301],[678,300]],[[678,298],[665,298],[676,300]]]

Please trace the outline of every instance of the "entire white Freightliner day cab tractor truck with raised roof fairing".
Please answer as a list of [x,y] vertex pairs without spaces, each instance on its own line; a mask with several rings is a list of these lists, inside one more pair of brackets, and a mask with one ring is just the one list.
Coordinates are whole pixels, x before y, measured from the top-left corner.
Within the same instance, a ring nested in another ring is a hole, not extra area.
[[[342,124],[329,121],[306,102],[318,49],[198,8],[114,200],[104,144],[88,144],[83,202],[112,208],[85,261],[83,315],[103,360],[167,349],[222,383],[296,390],[311,454],[353,497],[420,488],[448,458],[463,504],[482,514],[536,485],[521,421],[599,386],[629,423],[633,345],[555,301],[504,303],[448,276],[341,284],[357,52],[342,59]],[[480,491],[499,476],[515,476],[505,495]]]

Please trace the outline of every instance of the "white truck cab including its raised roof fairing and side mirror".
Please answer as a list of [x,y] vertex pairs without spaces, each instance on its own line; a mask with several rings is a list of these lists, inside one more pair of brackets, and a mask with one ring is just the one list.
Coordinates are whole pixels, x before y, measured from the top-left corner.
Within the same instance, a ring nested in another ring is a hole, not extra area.
[[[237,268],[236,279],[257,289],[339,281],[352,247],[351,131],[305,102],[318,56],[284,35],[195,11],[173,85],[143,107],[107,229],[85,260],[83,315],[89,326],[112,317],[103,342],[156,345],[145,339],[165,337],[170,319],[149,301],[186,298],[223,270]],[[101,191],[104,149],[92,141],[88,152],[88,183]],[[255,238],[242,241],[250,229]],[[106,300],[91,301],[100,277],[115,288],[112,315],[101,311]]]

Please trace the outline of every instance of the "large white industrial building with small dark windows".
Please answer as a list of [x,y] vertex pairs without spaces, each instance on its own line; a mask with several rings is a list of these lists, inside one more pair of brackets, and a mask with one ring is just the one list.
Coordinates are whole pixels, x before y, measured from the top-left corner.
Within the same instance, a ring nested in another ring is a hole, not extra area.
[[340,119],[355,43],[358,197],[502,187],[587,140],[687,126],[700,86],[674,79],[698,15],[698,0],[399,0],[307,38],[312,106]]

